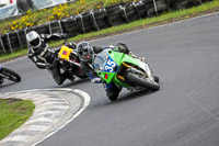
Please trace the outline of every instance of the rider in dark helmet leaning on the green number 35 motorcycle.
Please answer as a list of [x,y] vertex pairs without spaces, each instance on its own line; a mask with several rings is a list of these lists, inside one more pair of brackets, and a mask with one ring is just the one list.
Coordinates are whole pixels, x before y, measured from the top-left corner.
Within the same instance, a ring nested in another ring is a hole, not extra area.
[[[77,45],[77,53],[79,55],[79,58],[81,60],[81,69],[90,77],[91,81],[94,83],[101,83],[101,77],[96,75],[96,72],[93,70],[92,64],[93,60],[96,56],[96,54],[101,53],[105,48],[111,48],[116,52],[120,52],[124,54],[128,54],[132,57],[139,58],[135,56],[126,46],[126,44],[118,43],[117,47],[115,46],[107,46],[107,47],[102,47],[102,46],[92,46],[89,42],[81,42]],[[145,61],[145,57],[140,58],[142,61]],[[106,91],[106,96],[111,99],[114,97],[118,97],[122,88],[117,87],[115,83],[104,83],[104,88]]]

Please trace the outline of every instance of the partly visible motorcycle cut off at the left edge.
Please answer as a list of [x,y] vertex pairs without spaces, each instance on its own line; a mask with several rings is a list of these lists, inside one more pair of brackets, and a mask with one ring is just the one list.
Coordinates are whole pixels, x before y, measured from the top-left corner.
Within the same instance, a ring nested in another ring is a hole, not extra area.
[[3,83],[4,79],[19,82],[21,81],[21,76],[9,68],[0,66],[0,85]]

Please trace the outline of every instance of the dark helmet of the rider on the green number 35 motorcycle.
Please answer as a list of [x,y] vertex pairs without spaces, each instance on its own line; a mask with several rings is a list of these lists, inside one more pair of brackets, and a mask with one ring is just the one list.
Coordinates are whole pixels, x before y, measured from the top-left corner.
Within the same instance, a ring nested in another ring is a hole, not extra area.
[[77,53],[80,60],[92,61],[93,60],[93,48],[89,42],[81,42],[77,45]]

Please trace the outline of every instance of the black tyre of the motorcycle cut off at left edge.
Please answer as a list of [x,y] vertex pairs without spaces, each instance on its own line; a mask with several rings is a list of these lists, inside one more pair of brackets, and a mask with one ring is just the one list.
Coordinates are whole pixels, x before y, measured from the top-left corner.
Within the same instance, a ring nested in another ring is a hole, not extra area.
[[5,79],[9,79],[9,80],[11,80],[11,81],[15,81],[15,82],[21,81],[20,75],[18,75],[16,72],[14,72],[14,71],[11,70],[11,69],[3,68],[3,67],[2,67],[0,74],[2,74],[3,76],[5,76],[4,78],[5,78]]

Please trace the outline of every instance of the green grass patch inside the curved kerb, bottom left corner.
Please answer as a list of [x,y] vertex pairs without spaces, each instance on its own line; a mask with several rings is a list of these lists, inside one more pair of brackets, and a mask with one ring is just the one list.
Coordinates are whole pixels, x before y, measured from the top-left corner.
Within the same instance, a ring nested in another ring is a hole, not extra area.
[[0,99],[0,139],[25,123],[34,108],[31,100]]

